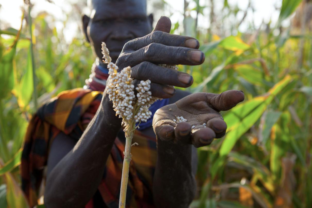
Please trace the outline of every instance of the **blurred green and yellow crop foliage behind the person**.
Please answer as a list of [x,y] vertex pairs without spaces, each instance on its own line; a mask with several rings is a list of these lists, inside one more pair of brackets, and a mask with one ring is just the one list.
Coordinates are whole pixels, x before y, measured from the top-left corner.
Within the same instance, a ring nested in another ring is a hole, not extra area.
[[[278,20],[258,27],[246,22],[254,1],[244,9],[228,1],[216,12],[220,1],[181,0],[183,20],[172,25],[173,33],[197,37],[206,55],[201,66],[179,66],[194,77],[188,90],[245,93],[223,113],[226,136],[198,149],[191,207],[312,207],[312,1],[281,0]],[[148,3],[156,17],[175,15],[165,0]],[[64,30],[47,12],[31,17],[28,1],[20,29],[0,28],[0,207],[27,207],[19,164],[32,113],[59,92],[82,87],[90,74],[94,56],[80,29],[64,38],[86,6],[71,4]]]

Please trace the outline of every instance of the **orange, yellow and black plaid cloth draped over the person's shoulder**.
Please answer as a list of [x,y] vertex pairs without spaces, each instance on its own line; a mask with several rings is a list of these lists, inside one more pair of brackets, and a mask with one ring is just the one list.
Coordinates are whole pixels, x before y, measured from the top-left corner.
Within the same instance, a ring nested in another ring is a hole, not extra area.
[[[79,140],[95,115],[102,92],[74,89],[60,93],[41,106],[29,122],[22,153],[22,190],[31,207],[37,205],[38,192],[44,179],[44,169],[53,139],[62,131]],[[118,207],[121,172],[123,165],[124,134],[119,133],[108,157],[103,179],[97,193],[107,207]],[[152,181],[156,164],[156,140],[135,131],[132,147],[127,207],[153,207]],[[94,197],[95,198],[95,197]],[[91,199],[85,206],[95,207]]]

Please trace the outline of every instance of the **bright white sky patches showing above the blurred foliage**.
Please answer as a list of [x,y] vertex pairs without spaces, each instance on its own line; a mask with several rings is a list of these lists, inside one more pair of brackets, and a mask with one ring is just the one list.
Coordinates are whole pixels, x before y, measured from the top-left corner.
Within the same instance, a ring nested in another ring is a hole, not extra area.
[[[148,0],[149,2],[150,0]],[[23,0],[0,0],[0,25],[1,29],[4,29],[5,26],[11,26],[13,28],[18,29],[20,26],[20,18],[22,15],[21,7],[23,6]],[[55,4],[51,4],[46,0],[32,0],[34,4],[32,15],[35,16],[40,11],[46,11],[51,13],[54,17],[56,17],[56,28],[58,30],[63,27],[62,21],[66,19],[64,14],[65,12],[71,11],[73,8],[71,7],[71,2],[81,2],[79,0],[53,0]],[[170,5],[170,10],[173,14],[171,20],[173,23],[179,21],[182,24],[183,20],[183,0],[167,0]],[[200,0],[200,5],[207,5],[210,1]],[[256,11],[252,14],[252,12],[247,13],[246,22],[254,21],[256,27],[259,27],[262,20],[265,23],[269,22],[270,19],[272,22],[276,22],[279,16],[279,12],[275,10],[275,6],[280,7],[282,0],[252,0],[253,6]],[[248,5],[248,0],[228,0],[228,3],[232,6],[238,5],[239,8],[245,9]],[[223,6],[223,0],[215,1],[216,13],[221,12],[221,8]],[[195,3],[191,3],[189,8],[195,7]],[[148,8],[149,12],[153,12],[153,8]],[[208,8],[204,10],[204,14],[209,14]],[[191,16],[195,17],[195,11],[191,12]],[[238,14],[238,19],[241,19],[243,16],[243,12]],[[206,17],[207,18],[207,17]],[[80,21],[80,19],[79,19]],[[77,22],[66,25],[65,37],[68,40],[71,40],[72,36],[74,36],[77,32]],[[287,23],[286,23],[287,24]],[[209,21],[204,19],[202,16],[198,18],[199,27],[208,28]],[[240,31],[245,31],[247,24],[242,24],[239,28]]]

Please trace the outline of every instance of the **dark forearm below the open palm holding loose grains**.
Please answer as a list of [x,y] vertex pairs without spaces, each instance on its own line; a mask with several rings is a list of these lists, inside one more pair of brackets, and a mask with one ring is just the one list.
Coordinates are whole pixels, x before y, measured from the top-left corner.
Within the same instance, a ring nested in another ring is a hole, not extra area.
[[192,146],[158,140],[153,195],[156,207],[188,207],[196,191]]

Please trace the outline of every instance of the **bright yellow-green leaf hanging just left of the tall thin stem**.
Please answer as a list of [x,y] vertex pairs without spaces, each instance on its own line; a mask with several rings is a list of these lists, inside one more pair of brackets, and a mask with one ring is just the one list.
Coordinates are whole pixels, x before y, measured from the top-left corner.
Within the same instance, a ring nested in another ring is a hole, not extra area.
[[28,105],[32,98],[32,92],[34,90],[32,76],[32,56],[30,50],[31,47],[29,47],[29,52],[27,56],[26,73],[22,77],[18,92],[18,104],[21,108],[24,108]]

